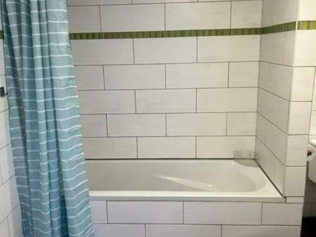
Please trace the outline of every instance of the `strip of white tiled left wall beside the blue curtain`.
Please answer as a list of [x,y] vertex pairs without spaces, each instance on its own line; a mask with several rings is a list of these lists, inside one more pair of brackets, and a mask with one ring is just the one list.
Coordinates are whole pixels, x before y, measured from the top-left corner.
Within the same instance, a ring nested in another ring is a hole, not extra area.
[[[0,17],[1,18],[1,17]],[[1,23],[1,21],[0,21]],[[2,25],[0,24],[0,30]],[[5,83],[3,40],[0,40],[0,87]],[[21,237],[21,207],[13,167],[7,97],[0,98],[0,236]]]

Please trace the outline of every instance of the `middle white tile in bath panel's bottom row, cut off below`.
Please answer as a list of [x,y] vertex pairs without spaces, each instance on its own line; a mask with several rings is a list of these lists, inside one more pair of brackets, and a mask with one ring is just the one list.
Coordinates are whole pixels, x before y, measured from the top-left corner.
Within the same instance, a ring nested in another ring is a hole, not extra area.
[[146,237],[221,237],[221,226],[146,225]]

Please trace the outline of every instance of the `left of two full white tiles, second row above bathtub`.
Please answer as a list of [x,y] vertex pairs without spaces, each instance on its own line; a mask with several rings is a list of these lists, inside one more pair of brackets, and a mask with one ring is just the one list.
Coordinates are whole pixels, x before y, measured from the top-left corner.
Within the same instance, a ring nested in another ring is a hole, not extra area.
[[112,114],[107,116],[109,137],[165,136],[164,114]]

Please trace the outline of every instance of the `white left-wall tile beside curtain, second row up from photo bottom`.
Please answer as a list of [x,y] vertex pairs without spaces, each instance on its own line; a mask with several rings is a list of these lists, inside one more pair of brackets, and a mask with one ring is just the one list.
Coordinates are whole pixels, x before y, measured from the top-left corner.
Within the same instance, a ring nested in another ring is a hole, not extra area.
[[0,197],[0,222],[2,222],[19,204],[19,196],[14,176],[0,187]]

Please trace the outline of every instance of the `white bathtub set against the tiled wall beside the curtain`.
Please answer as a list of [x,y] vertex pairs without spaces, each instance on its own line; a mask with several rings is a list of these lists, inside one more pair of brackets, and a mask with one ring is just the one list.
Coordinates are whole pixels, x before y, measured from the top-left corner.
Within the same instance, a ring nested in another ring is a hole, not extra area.
[[91,200],[284,202],[255,161],[88,160]]

